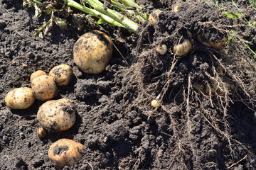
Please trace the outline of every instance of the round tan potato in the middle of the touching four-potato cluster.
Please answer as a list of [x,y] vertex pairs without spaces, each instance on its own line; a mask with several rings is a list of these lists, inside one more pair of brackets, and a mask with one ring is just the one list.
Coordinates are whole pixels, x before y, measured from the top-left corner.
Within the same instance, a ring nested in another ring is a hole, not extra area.
[[39,101],[48,101],[58,95],[58,88],[54,82],[54,78],[50,76],[36,77],[31,82],[34,96]]

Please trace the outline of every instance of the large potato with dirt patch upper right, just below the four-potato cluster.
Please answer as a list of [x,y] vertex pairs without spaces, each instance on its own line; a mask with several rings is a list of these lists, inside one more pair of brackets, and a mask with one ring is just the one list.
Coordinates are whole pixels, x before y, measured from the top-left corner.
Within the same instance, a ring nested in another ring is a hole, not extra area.
[[68,98],[47,101],[39,108],[37,119],[46,130],[68,130],[75,124],[75,104]]

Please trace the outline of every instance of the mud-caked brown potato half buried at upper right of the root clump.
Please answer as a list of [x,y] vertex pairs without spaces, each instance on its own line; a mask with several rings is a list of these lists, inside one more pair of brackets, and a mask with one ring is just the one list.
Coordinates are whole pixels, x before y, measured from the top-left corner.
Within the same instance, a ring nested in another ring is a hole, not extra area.
[[223,35],[222,33],[218,33],[218,31],[216,30],[210,30],[206,31],[205,33],[197,34],[196,40],[201,42],[203,45],[206,45],[207,47],[213,47],[215,49],[218,49],[222,47],[225,42],[227,42],[228,37]]

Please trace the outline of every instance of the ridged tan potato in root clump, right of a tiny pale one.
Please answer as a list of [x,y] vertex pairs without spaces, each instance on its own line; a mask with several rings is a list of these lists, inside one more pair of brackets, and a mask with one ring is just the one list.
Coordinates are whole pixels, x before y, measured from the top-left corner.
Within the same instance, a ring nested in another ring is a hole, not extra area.
[[173,52],[178,57],[183,57],[188,54],[192,48],[191,40],[185,39],[178,45],[174,45]]

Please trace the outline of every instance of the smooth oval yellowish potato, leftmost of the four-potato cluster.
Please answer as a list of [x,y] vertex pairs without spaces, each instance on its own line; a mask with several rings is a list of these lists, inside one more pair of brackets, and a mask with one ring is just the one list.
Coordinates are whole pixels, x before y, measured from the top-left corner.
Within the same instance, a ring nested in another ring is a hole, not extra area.
[[35,97],[31,88],[20,87],[9,91],[5,97],[6,106],[12,109],[26,109],[33,105]]

